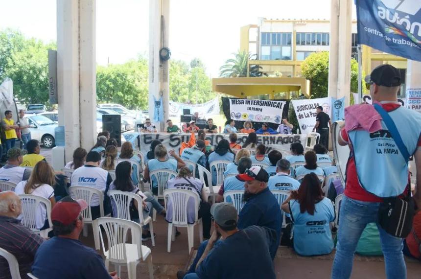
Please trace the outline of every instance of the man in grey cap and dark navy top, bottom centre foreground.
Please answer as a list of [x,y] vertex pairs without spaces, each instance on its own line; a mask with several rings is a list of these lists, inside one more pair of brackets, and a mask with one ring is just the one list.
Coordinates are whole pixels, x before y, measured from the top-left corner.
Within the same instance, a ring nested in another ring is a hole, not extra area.
[[[196,273],[185,279],[276,278],[269,245],[277,237],[274,230],[258,226],[237,228],[237,209],[231,203],[211,207],[213,232]],[[218,239],[221,238],[221,241]],[[246,264],[247,262],[253,264]]]

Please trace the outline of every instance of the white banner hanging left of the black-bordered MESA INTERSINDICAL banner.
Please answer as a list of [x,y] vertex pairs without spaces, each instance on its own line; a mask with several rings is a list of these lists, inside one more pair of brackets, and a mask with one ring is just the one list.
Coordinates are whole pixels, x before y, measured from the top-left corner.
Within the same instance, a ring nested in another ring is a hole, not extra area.
[[183,109],[189,109],[190,114],[199,114],[199,118],[207,118],[211,115],[219,115],[219,98],[216,97],[209,102],[197,105],[177,103],[169,101],[169,117],[180,119],[183,115]]

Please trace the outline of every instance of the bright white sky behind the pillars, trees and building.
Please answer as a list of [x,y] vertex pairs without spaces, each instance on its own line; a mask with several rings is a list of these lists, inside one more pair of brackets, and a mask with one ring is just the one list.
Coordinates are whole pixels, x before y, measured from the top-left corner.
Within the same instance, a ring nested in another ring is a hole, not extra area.
[[[189,63],[199,57],[211,77],[239,49],[241,26],[257,24],[260,17],[330,18],[330,0],[170,1],[171,58]],[[56,41],[56,0],[0,0],[0,7],[0,30],[10,27],[28,38]],[[96,8],[99,65],[147,57],[149,0],[96,0]]]

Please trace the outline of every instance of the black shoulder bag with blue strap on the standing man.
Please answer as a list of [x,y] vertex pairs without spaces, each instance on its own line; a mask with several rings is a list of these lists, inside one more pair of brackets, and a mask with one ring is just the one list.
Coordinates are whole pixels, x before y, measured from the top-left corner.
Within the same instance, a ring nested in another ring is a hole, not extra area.
[[[398,145],[400,153],[405,158],[406,163],[408,163],[408,149],[403,144],[392,118],[380,105],[374,104],[374,108],[383,118],[392,138]],[[380,204],[380,208],[378,209],[378,223],[387,233],[396,237],[405,238],[411,232],[414,214],[415,203],[411,197],[411,187],[408,186],[408,193],[403,198],[398,196],[383,199],[383,203]]]

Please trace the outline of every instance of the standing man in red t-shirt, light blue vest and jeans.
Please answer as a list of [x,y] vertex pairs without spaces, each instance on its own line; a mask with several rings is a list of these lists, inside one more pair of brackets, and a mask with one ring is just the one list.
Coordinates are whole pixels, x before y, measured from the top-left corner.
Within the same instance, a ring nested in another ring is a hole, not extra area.
[[[390,65],[381,65],[375,68],[371,75],[366,78],[367,85],[370,86],[370,95],[372,97],[373,102],[379,102],[383,109],[391,113],[395,110],[400,110],[395,113],[394,116],[410,116],[412,117],[410,121],[412,121],[411,125],[414,124],[415,126],[410,126],[408,133],[401,133],[400,136],[403,138],[404,142],[413,142],[412,149],[408,148],[408,152],[410,155],[414,155],[414,160],[417,167],[417,192],[414,196],[417,204],[421,206],[421,138],[420,133],[417,134],[417,129],[421,127],[421,117],[414,112],[409,111],[406,108],[400,108],[400,104],[398,103],[397,95],[400,88],[400,73],[399,71]],[[370,105],[367,104],[367,108]],[[408,111],[404,111],[408,110]],[[394,122],[398,120],[397,118],[394,119]],[[345,121],[347,121],[347,116]],[[409,127],[409,126],[408,126]],[[416,127],[416,128],[413,128]],[[400,127],[401,128],[401,127]],[[387,129],[383,125],[382,129]],[[399,129],[398,129],[399,130]],[[403,129],[405,130],[405,129]],[[340,229],[338,231],[338,244],[336,247],[336,255],[333,262],[332,268],[332,279],[346,279],[351,277],[352,271],[352,261],[353,256],[355,253],[355,249],[358,243],[358,240],[361,236],[361,233],[364,231],[366,225],[368,223],[377,223],[377,214],[380,203],[383,201],[382,198],[374,195],[373,193],[368,192],[366,189],[375,189],[380,191],[387,192],[383,185],[373,185],[375,184],[375,177],[377,178],[386,178],[389,177],[388,174],[392,173],[397,177],[401,177],[402,173],[407,172],[407,166],[405,169],[405,165],[403,164],[403,168],[398,167],[391,167],[390,169],[378,169],[379,166],[370,165],[369,167],[361,168],[361,165],[364,164],[364,161],[373,162],[365,156],[372,156],[369,154],[364,153],[367,149],[363,149],[362,144],[367,144],[367,146],[371,147],[373,142],[367,142],[376,140],[376,134],[371,134],[369,140],[365,140],[362,143],[361,139],[367,139],[367,131],[364,130],[357,130],[353,133],[354,141],[352,141],[350,137],[350,131],[345,131],[342,128],[340,132],[340,137],[338,138],[338,143],[340,145],[349,145],[351,149],[351,156],[348,160],[347,164],[347,180],[346,180],[346,187],[345,187],[345,197],[342,199],[341,208],[340,208]],[[384,131],[387,135],[390,134],[389,131]],[[358,141],[359,140],[359,141]],[[394,141],[393,138],[388,140]],[[407,141],[405,141],[407,140]],[[415,143],[418,141],[418,144]],[[357,145],[356,142],[359,142],[360,145]],[[396,142],[395,142],[396,143]],[[355,148],[355,149],[354,149]],[[358,148],[362,148],[358,150]],[[410,150],[411,149],[411,150]],[[364,152],[361,152],[364,150]],[[370,150],[372,151],[372,149]],[[362,154],[363,153],[363,154]],[[381,153],[381,152],[380,152]],[[358,160],[355,159],[355,154],[357,154]],[[376,157],[375,160],[380,160],[377,162],[389,162],[392,160],[396,160],[398,157],[395,154],[382,154],[382,156]],[[400,152],[398,152],[398,156],[402,156]],[[402,161],[402,158],[398,158]],[[359,162],[358,165],[358,172],[355,161]],[[375,161],[374,161],[375,162]],[[377,169],[376,169],[377,167]],[[383,176],[382,176],[383,175]],[[380,177],[381,176],[381,177]],[[361,180],[364,179],[366,184],[363,183],[361,186]],[[383,179],[384,180],[384,179]],[[374,183],[367,185],[368,181],[374,181]],[[409,177],[408,177],[409,182]],[[408,185],[409,183],[406,183]],[[405,185],[398,185],[399,188],[404,188]],[[402,190],[402,193],[406,192],[406,190]],[[386,266],[386,276],[387,278],[406,278],[406,267],[405,261],[402,254],[402,238],[395,237],[391,234],[385,232],[377,223],[377,227],[380,233],[380,240],[382,244],[382,251],[385,258],[385,266]]]

